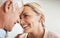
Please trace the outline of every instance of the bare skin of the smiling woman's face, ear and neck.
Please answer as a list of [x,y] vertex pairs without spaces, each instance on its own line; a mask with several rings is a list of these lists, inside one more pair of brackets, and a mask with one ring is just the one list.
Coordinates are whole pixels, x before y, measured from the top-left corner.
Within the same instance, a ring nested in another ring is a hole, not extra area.
[[44,30],[41,25],[41,17],[42,15],[37,15],[31,7],[24,7],[24,11],[20,15],[20,24],[24,32],[28,33],[28,38],[42,38]]

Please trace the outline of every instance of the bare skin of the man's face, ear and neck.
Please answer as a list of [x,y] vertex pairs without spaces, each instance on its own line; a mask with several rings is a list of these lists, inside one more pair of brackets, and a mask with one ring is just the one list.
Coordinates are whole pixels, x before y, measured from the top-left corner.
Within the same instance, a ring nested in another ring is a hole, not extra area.
[[[23,8],[13,11],[12,0],[7,0],[0,7],[0,28],[5,29],[6,31],[11,31],[14,24],[18,21],[19,15],[22,12]],[[19,12],[20,11],[20,12]]]

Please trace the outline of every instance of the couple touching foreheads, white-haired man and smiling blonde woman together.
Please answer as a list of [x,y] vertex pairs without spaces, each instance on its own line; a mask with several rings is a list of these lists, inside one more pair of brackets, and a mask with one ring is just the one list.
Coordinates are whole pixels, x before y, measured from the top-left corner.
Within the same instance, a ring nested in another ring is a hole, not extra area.
[[59,38],[52,32],[46,32],[45,17],[39,4],[22,5],[21,0],[0,0],[0,38],[5,38],[6,31],[11,31],[17,22],[24,33],[15,38]]

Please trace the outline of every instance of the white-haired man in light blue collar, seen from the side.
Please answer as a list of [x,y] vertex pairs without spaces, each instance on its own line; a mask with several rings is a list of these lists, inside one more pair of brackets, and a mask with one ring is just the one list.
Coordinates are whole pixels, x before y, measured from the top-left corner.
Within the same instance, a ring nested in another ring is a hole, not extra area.
[[0,0],[0,38],[5,38],[6,31],[11,31],[19,19],[23,7],[21,0],[18,1]]

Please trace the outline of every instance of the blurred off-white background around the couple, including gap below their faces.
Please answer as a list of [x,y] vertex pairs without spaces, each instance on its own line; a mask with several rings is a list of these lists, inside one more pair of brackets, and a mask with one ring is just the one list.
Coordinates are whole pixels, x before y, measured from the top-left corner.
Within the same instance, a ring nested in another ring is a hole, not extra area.
[[[41,5],[45,15],[45,28],[59,35],[60,0],[23,0],[24,4],[29,2],[36,2]],[[23,33],[23,29],[18,23],[16,23],[13,27],[13,30],[11,32],[8,32],[7,38],[14,38],[17,34],[21,33]]]

